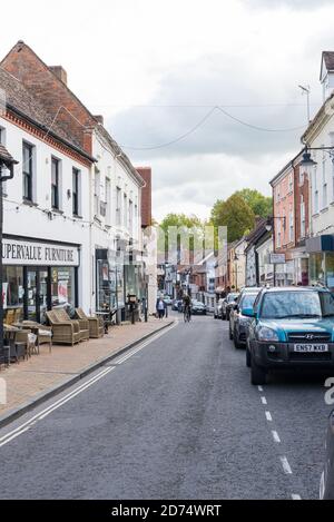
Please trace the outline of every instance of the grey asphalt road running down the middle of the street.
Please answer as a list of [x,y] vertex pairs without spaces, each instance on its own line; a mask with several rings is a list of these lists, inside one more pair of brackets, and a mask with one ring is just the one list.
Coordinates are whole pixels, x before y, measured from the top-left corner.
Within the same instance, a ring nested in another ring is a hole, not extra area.
[[1,499],[317,498],[323,377],[252,386],[210,316],[104,372],[0,431]]

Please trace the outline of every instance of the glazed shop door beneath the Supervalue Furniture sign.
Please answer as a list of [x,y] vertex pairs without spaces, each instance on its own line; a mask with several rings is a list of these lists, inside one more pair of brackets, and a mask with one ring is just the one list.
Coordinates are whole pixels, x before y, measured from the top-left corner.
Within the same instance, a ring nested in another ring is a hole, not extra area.
[[27,315],[29,321],[46,323],[50,293],[50,278],[47,268],[27,268]]

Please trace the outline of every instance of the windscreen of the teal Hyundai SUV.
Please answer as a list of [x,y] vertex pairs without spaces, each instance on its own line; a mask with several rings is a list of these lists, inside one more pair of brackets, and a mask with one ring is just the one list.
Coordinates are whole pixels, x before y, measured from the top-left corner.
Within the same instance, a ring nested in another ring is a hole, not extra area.
[[[331,296],[331,294],[328,293]],[[325,303],[326,301],[326,303]],[[327,299],[321,299],[318,292],[273,292],[263,297],[261,317],[279,319],[291,317],[321,317],[325,304],[326,314],[332,309]]]

